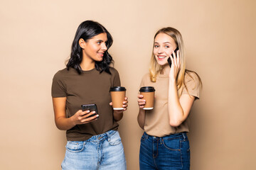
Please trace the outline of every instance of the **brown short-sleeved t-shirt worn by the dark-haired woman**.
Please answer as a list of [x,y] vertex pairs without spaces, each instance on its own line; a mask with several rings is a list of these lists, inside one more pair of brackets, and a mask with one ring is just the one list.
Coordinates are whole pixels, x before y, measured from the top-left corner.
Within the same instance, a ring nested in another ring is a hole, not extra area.
[[58,71],[53,77],[53,98],[66,97],[66,113],[70,118],[82,104],[97,105],[99,118],[91,123],[75,125],[67,130],[67,140],[87,140],[92,135],[99,135],[108,130],[117,130],[118,124],[113,118],[113,108],[110,106],[110,87],[120,86],[119,74],[116,69],[110,67],[111,74],[92,69],[82,71],[82,74],[70,68]]

